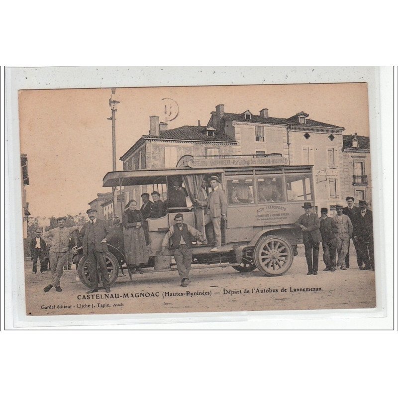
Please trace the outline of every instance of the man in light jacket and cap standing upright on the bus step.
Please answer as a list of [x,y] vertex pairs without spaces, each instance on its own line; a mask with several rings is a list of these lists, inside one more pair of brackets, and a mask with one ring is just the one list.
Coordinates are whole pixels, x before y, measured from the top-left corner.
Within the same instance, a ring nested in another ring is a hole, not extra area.
[[214,247],[210,252],[218,252],[221,249],[221,220],[224,220],[224,222],[227,220],[227,197],[217,176],[211,176],[208,181],[210,182],[211,192],[207,198],[206,214],[210,216],[214,228]]

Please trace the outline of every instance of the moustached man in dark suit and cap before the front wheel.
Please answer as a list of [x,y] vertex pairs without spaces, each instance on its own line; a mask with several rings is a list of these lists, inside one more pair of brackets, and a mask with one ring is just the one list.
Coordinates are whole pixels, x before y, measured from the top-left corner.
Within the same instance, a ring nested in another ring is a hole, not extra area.
[[83,242],[83,254],[87,256],[89,264],[91,289],[87,293],[98,292],[98,271],[100,267],[101,279],[105,292],[109,293],[109,275],[106,268],[105,253],[108,251],[107,240],[110,229],[105,221],[97,218],[97,210],[89,208],[87,215],[90,221],[83,225],[79,232],[79,240]]

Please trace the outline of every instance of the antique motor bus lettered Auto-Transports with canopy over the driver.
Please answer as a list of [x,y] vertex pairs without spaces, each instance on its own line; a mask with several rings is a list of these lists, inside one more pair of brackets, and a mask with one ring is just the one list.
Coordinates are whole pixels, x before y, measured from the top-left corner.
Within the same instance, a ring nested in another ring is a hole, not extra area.
[[[193,242],[193,268],[232,266],[240,272],[257,268],[266,276],[280,276],[292,266],[301,232],[295,227],[303,202],[314,205],[312,166],[288,166],[286,158],[233,157],[192,159],[182,168],[145,169],[109,172],[103,178],[103,187],[118,187],[119,192],[136,187],[135,197],[144,192],[149,195],[158,191],[165,204],[165,215],[149,219],[148,246],[150,261],[145,272],[177,270],[172,262],[172,252],[160,254],[162,240],[176,213],[183,213],[184,222],[201,231],[203,237],[210,233],[205,225],[206,208],[195,204],[203,180],[217,176],[228,200],[227,221],[222,223],[222,246],[218,252],[210,252],[212,246]],[[187,167],[188,166],[188,167]],[[186,207],[171,207],[168,194],[173,181],[180,179],[187,195]],[[206,189],[208,192],[208,188]],[[131,194],[132,195],[132,194]],[[123,198],[123,194],[120,199]],[[124,210],[126,198],[119,200]],[[140,200],[137,200],[137,208]],[[210,222],[211,225],[211,222]],[[209,239],[209,236],[207,236]],[[108,241],[106,261],[110,282],[127,270],[132,279],[132,270],[126,265],[123,253],[123,227],[113,227],[112,239]],[[82,283],[90,286],[88,267],[79,248],[74,257]]]

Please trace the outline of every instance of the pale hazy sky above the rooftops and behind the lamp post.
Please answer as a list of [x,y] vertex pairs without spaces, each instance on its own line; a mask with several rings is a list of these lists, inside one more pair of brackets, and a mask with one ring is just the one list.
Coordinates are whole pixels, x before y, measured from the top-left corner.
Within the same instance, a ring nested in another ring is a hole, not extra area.
[[[165,120],[165,98],[178,104],[168,128],[206,125],[215,106],[242,113],[290,117],[303,110],[309,118],[345,127],[345,134],[369,136],[366,83],[118,88],[116,168],[119,160],[149,131],[149,116]],[[32,216],[78,214],[89,208],[112,170],[110,89],[21,90],[19,125],[21,153],[28,156],[26,186]]]

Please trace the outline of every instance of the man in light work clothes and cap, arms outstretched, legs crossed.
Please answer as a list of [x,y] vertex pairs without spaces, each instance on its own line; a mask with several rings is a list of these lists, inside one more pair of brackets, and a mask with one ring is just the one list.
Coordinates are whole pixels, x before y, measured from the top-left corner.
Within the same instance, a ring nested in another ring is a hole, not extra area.
[[41,235],[42,238],[51,238],[49,255],[52,280],[51,284],[44,288],[44,292],[46,293],[53,287],[57,292],[62,292],[59,282],[64,272],[64,266],[68,261],[69,237],[73,232],[79,229],[77,225],[74,227],[66,227],[65,223],[66,217],[58,217],[58,227],[50,229]]

